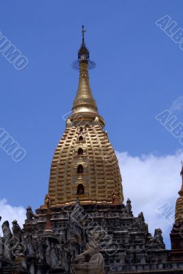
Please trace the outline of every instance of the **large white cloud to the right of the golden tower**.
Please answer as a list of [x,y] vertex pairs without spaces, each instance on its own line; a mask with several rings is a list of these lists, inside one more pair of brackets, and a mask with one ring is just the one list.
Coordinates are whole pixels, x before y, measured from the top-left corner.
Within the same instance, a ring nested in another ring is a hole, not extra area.
[[180,162],[183,151],[161,157],[153,154],[132,157],[127,152],[117,152],[117,157],[123,178],[125,201],[127,198],[131,199],[135,216],[141,211],[144,213],[149,231],[153,235],[155,228],[162,229],[169,247],[169,233],[173,222],[160,216],[157,209],[169,203],[174,221],[175,201],[182,183]]

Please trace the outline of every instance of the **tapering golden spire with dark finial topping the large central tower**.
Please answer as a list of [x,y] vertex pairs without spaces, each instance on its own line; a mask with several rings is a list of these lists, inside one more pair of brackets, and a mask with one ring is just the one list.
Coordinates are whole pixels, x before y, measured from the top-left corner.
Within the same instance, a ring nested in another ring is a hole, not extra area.
[[90,89],[88,68],[95,63],[90,61],[90,53],[84,42],[85,32],[86,30],[84,29],[84,26],[82,26],[82,45],[78,51],[77,60],[77,64],[79,63],[80,68],[80,78],[77,95],[73,102],[72,114],[69,119],[73,123],[77,123],[78,121],[81,123],[81,121],[92,122],[98,117],[99,123],[103,127],[105,122],[103,121],[103,118],[99,116],[97,104]]

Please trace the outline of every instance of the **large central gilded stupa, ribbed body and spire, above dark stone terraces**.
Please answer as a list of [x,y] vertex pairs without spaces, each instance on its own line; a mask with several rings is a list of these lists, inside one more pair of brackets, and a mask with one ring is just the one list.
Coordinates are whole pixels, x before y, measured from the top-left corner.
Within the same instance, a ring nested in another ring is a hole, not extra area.
[[78,51],[80,79],[66,130],[51,163],[51,206],[75,203],[123,203],[117,157],[103,130],[104,120],[90,88],[90,54],[84,41]]

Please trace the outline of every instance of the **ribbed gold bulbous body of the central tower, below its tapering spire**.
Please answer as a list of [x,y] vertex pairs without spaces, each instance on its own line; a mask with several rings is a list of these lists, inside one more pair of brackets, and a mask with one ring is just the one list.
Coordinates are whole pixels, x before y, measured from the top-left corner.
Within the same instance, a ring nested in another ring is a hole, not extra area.
[[[79,140],[80,136],[83,140]],[[82,155],[78,155],[80,148]],[[83,173],[77,173],[79,164]],[[84,186],[84,195],[77,195],[78,184]],[[82,132],[78,127],[66,129],[53,156],[49,195],[52,206],[74,203],[77,197],[82,203],[122,203],[117,157],[99,125],[85,127]]]

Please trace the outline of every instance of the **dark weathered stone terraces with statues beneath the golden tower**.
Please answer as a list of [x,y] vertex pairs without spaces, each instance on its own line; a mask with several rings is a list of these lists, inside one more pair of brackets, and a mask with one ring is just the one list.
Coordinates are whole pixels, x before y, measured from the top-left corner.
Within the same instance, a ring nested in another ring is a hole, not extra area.
[[[164,247],[161,230],[156,229],[152,237],[143,214],[134,217],[129,205],[81,206],[77,200],[75,206],[55,207],[51,211],[39,208],[36,216],[25,220],[23,230],[13,229],[14,234],[18,233],[16,246],[20,245],[16,252],[10,227],[3,223],[0,273],[71,273],[72,269],[75,274],[82,270],[90,273],[101,256],[108,273],[183,273],[183,262],[169,260],[170,251]],[[86,266],[83,255],[87,255],[92,240],[99,249],[93,260],[86,256],[92,262]],[[9,243],[9,251],[4,242]],[[101,269],[98,266],[97,271],[100,273]]]

